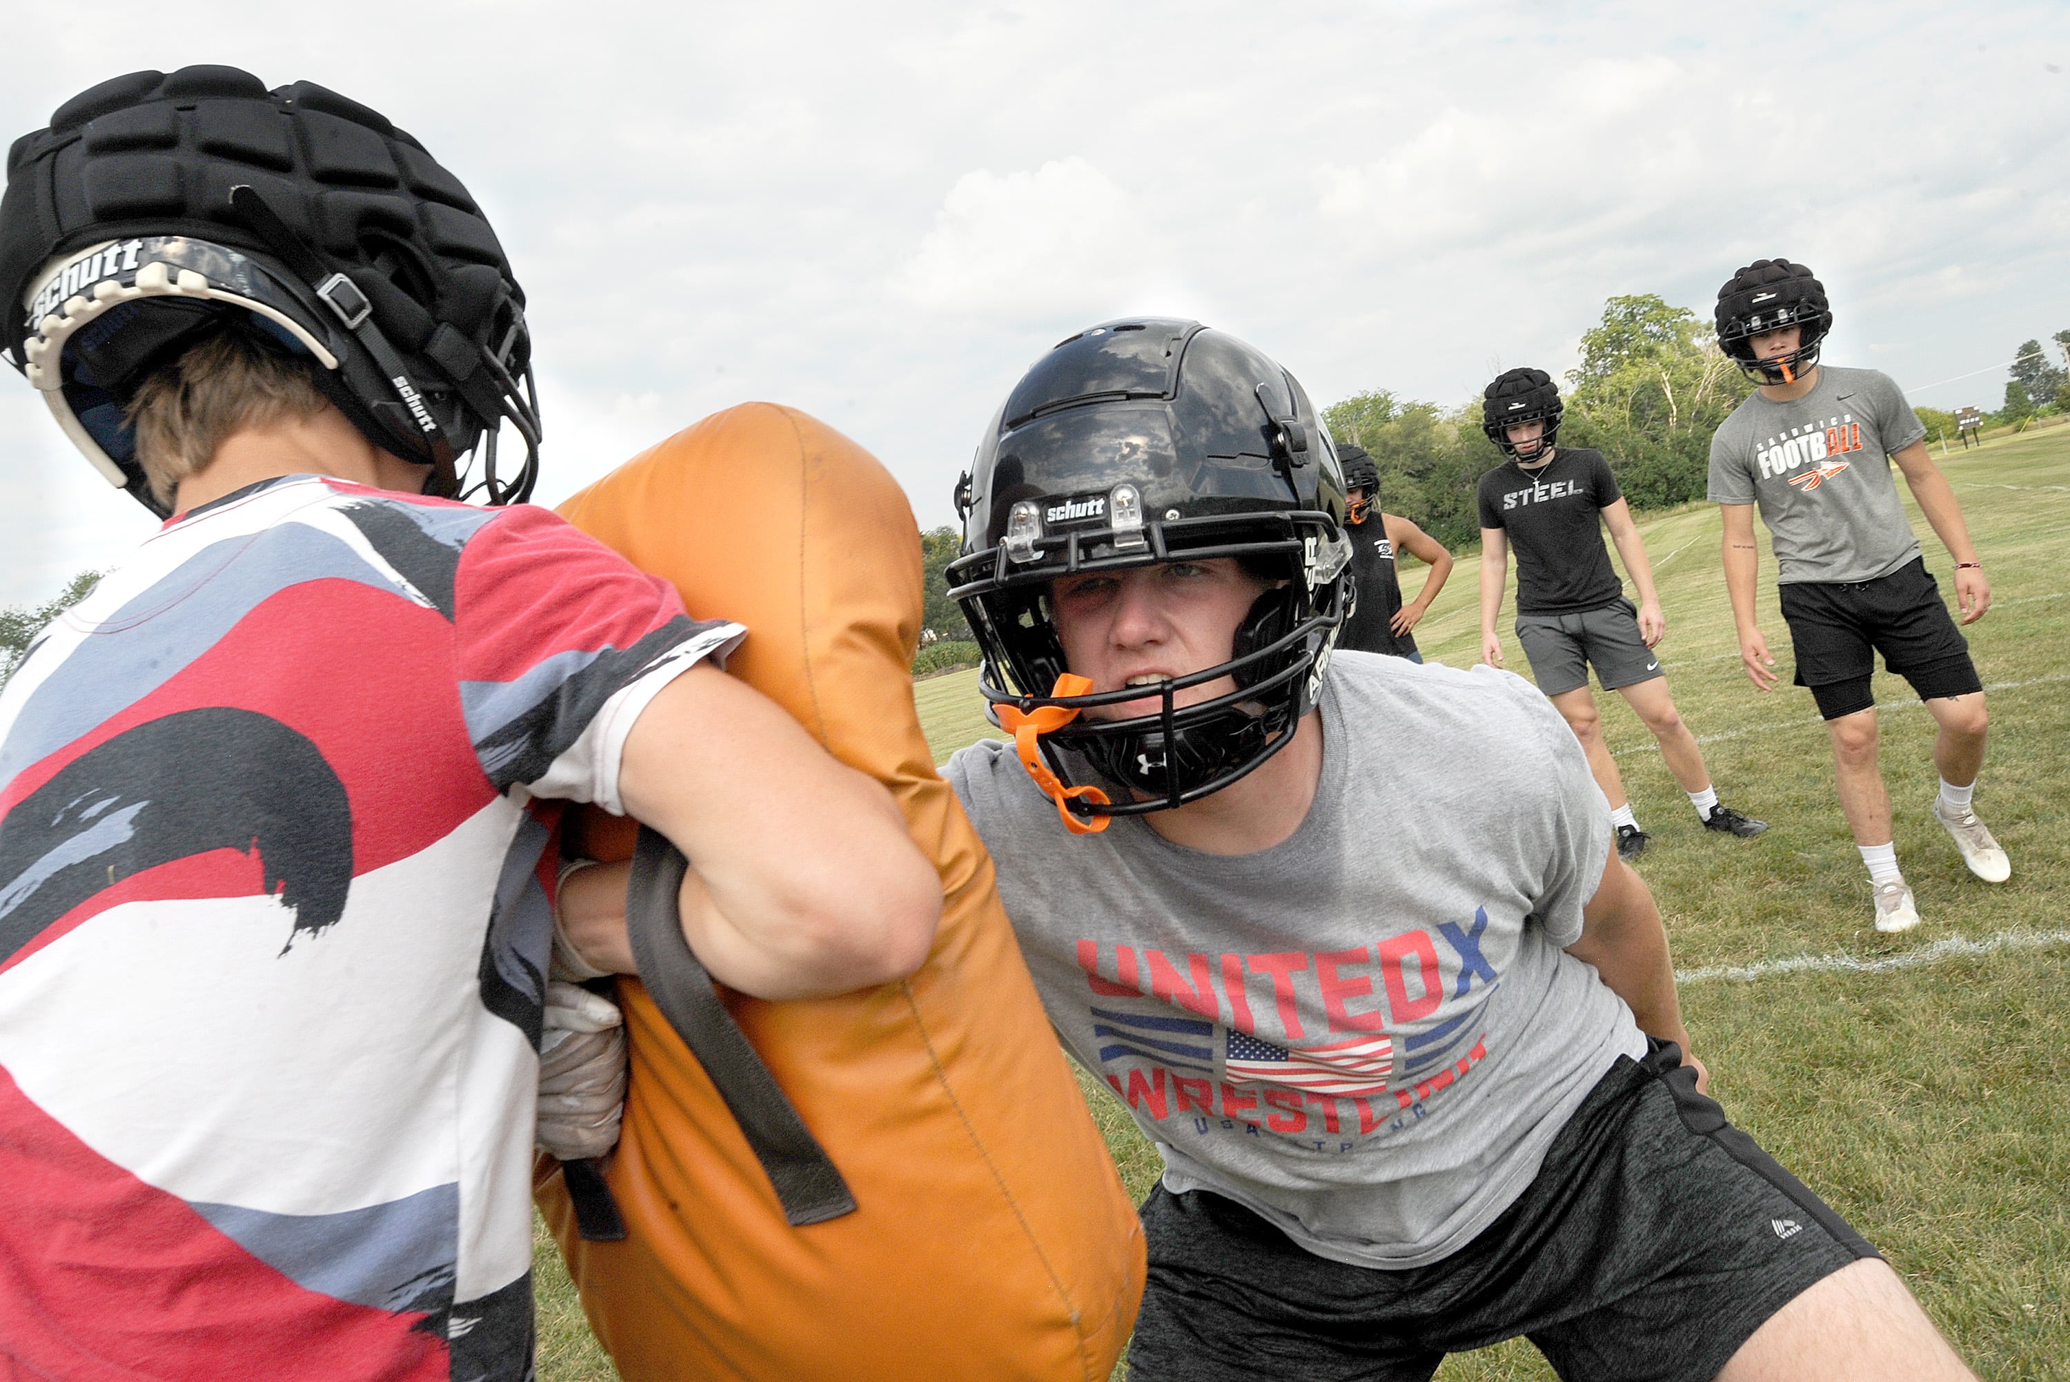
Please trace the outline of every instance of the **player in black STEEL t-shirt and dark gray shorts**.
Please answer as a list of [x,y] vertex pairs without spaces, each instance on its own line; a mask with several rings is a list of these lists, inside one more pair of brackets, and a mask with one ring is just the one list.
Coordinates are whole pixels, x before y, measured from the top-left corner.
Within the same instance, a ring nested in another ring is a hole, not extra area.
[[[1617,691],[1660,741],[1660,757],[1681,782],[1706,830],[1757,836],[1768,830],[1718,805],[1704,751],[1668,697],[1666,672],[1654,645],[1666,633],[1654,569],[1631,521],[1631,507],[1600,451],[1555,447],[1561,414],[1559,385],[1544,370],[1515,368],[1488,385],[1482,430],[1509,459],[1480,478],[1480,656],[1503,664],[1495,619],[1503,612],[1503,577],[1509,548],[1517,548],[1517,641],[1532,662],[1532,677],[1588,751],[1596,786],[1610,801],[1617,852],[1627,861],[1646,850],[1625,797],[1617,759],[1602,743],[1602,714],[1588,689],[1588,668],[1604,691]],[[1608,523],[1625,559],[1639,604],[1625,600],[1623,581],[1602,546]]]

